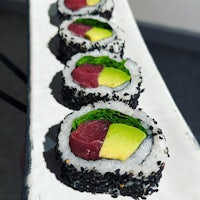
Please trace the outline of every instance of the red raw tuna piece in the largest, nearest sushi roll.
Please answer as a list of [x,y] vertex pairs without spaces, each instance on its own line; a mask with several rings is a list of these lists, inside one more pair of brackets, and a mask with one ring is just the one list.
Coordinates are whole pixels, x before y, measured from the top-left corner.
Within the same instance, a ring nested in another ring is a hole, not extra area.
[[98,160],[110,124],[106,120],[95,120],[79,125],[70,135],[71,151],[85,160]]

